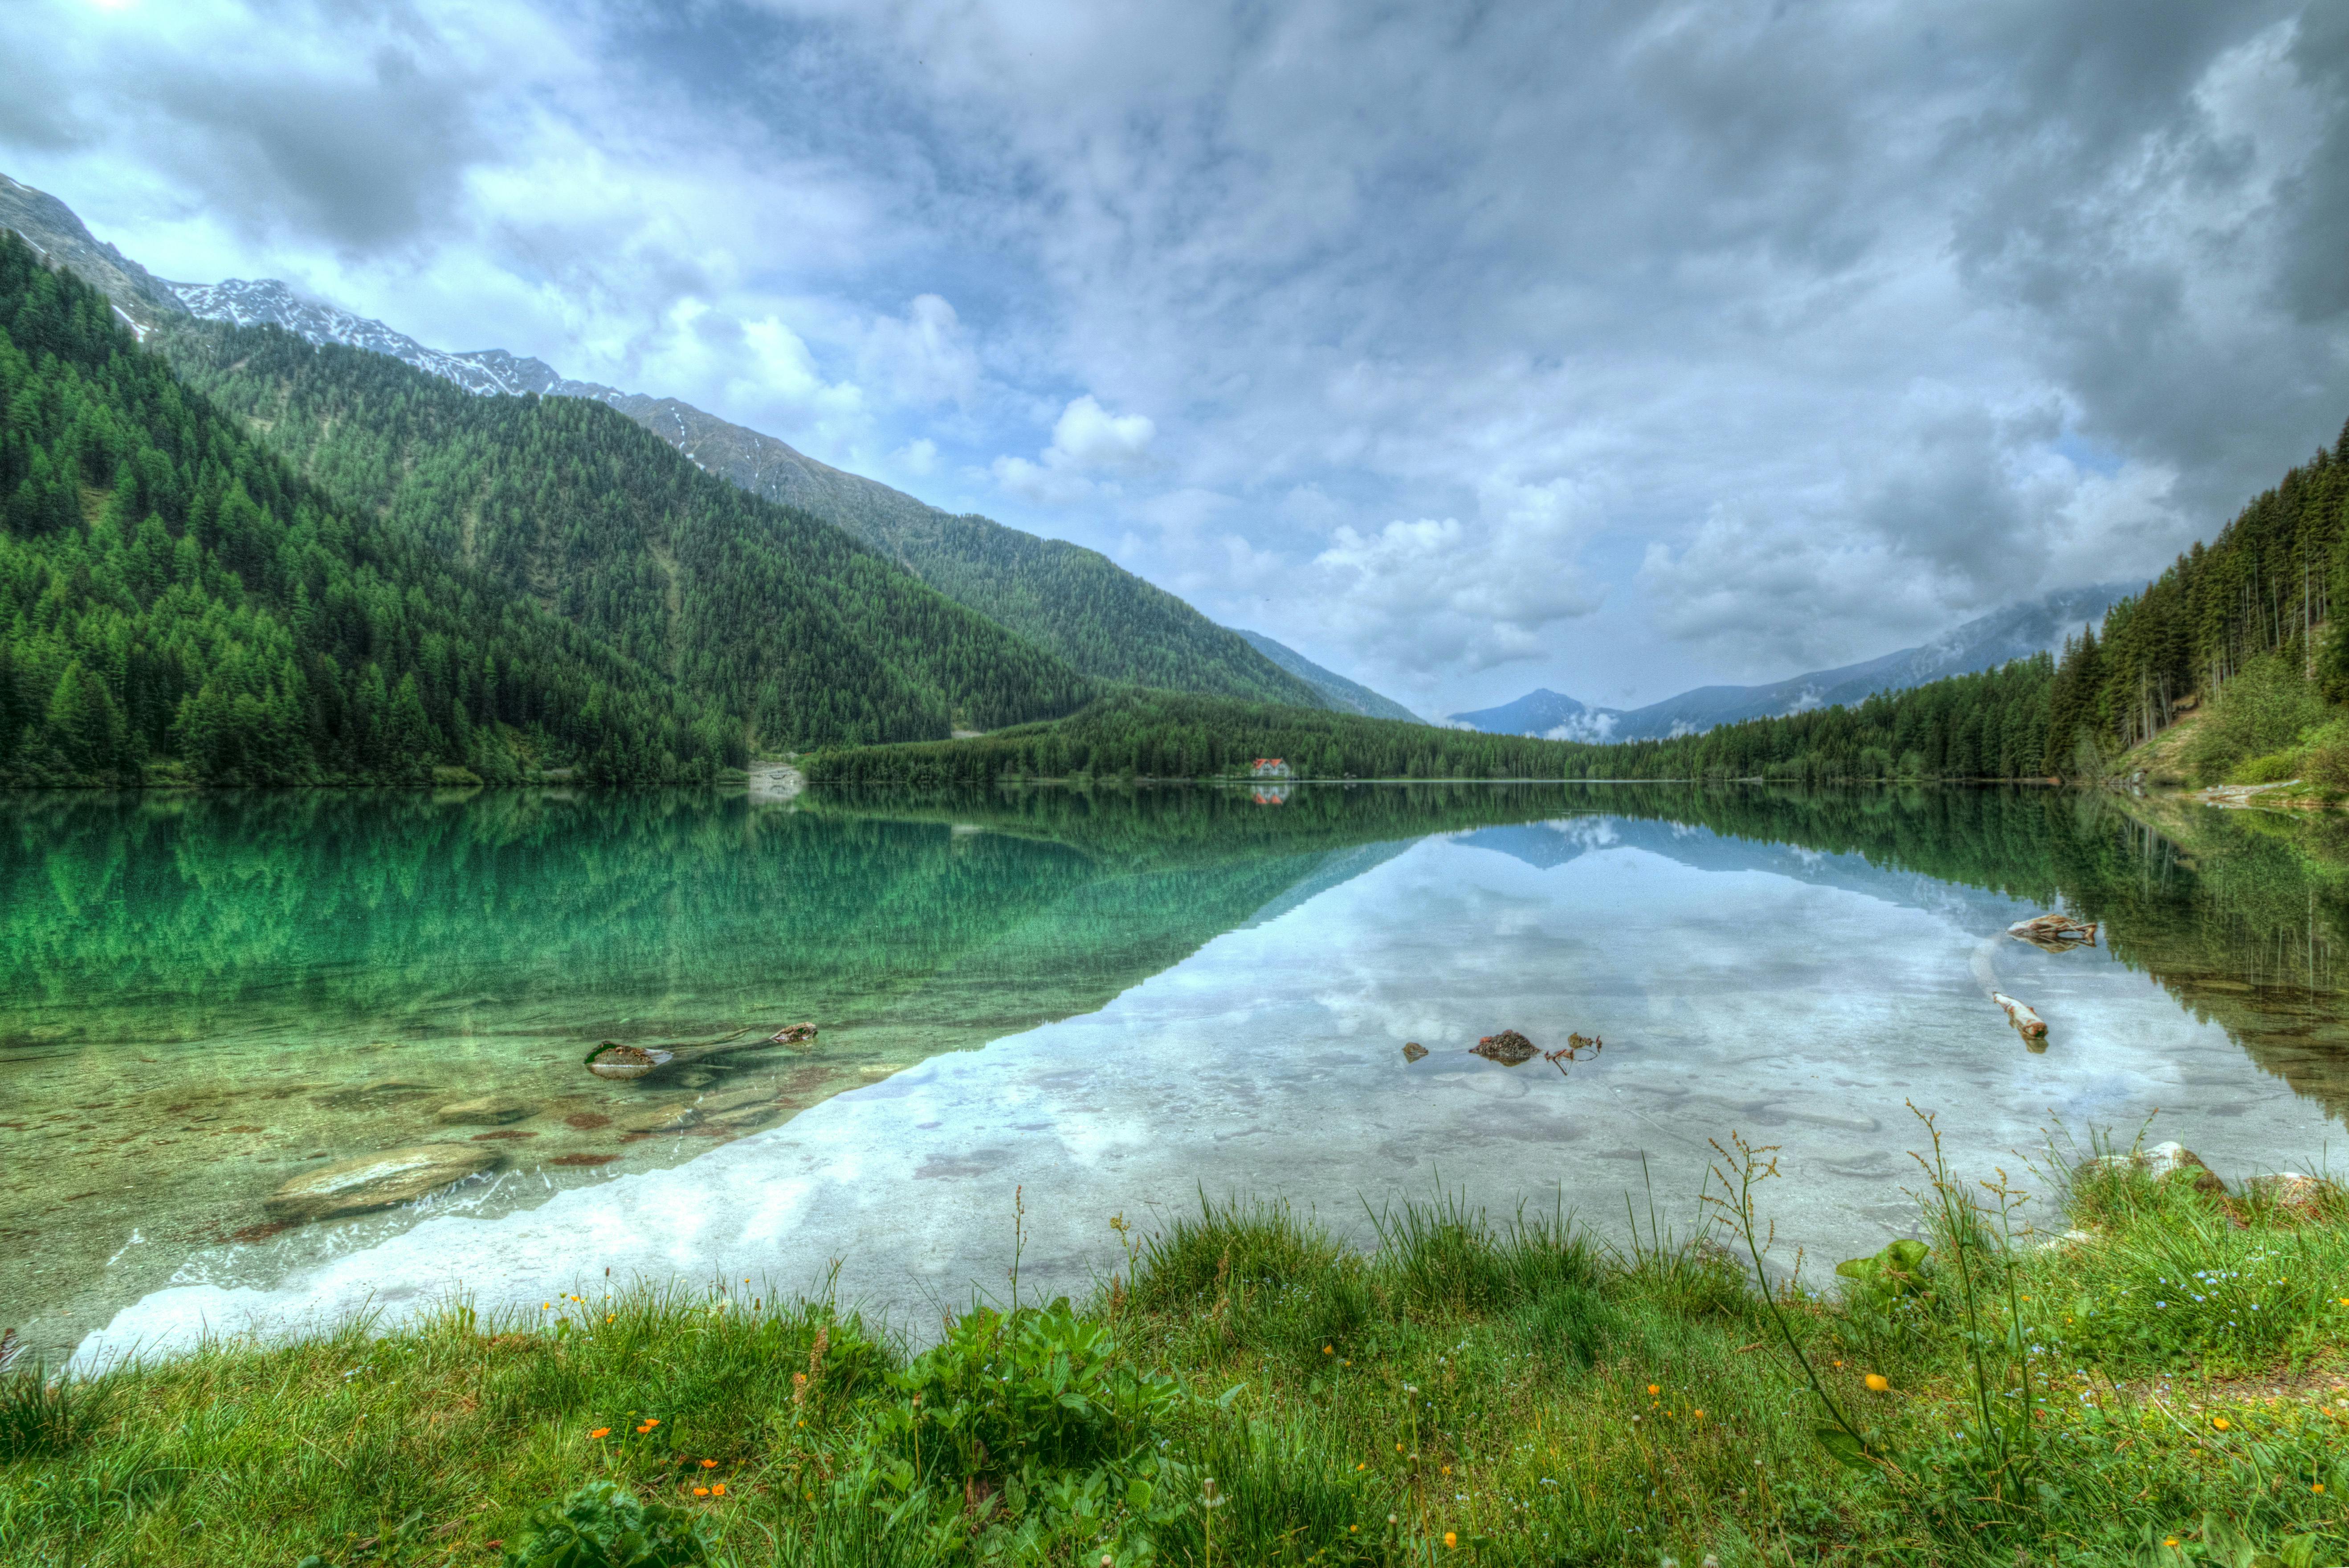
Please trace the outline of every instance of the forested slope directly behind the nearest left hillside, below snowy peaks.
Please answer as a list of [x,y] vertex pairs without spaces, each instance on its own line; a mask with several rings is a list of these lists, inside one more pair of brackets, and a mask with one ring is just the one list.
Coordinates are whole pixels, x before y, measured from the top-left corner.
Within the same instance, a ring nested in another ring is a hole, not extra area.
[[270,326],[153,343],[305,477],[745,718],[752,744],[944,737],[1090,697],[1059,657],[601,404],[472,397]]

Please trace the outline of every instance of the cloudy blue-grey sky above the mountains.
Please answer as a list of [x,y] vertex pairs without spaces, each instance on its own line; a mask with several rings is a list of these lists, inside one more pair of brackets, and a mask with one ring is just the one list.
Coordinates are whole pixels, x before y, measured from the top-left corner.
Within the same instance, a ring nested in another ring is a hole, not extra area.
[[181,282],[681,397],[1423,714],[2142,580],[2349,418],[2349,7],[19,0]]

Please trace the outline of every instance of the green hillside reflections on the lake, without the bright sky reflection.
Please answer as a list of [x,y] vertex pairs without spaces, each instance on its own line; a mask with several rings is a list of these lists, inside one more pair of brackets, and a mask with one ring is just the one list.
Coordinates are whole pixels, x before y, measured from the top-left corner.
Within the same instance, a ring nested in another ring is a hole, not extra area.
[[[263,1199],[303,1164],[496,1138],[500,1176],[437,1204],[477,1214],[677,1164],[940,1052],[1092,1014],[1428,836],[1529,864],[1637,843],[1893,901],[1945,885],[2067,906],[2297,1094],[2349,1108],[2349,852],[2328,822],[2077,791],[1677,786],[0,810],[0,1246],[33,1261],[0,1284],[0,1322],[52,1345],[197,1253],[207,1277],[265,1279],[418,1218],[280,1230]],[[641,1084],[580,1068],[599,1040],[747,1028],[756,1047],[801,1019],[813,1049]],[[442,1117],[479,1096],[526,1115]]]

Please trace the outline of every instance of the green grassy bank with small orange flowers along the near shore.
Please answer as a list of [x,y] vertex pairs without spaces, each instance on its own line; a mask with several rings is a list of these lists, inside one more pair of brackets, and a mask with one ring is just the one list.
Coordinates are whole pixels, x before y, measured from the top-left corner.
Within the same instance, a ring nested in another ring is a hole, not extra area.
[[[1771,1312],[1712,1239],[1445,1199],[1362,1253],[1229,1204],[1123,1237],[1083,1310],[921,1357],[820,1303],[632,1291],[16,1376],[0,1561],[519,1561],[590,1481],[681,1509],[644,1563],[2344,1561],[2342,1199],[2098,1171],[2067,1216],[2088,1239],[2008,1249],[1945,1209],[1919,1275]],[[1837,1460],[1820,1394],[1877,1460]]]

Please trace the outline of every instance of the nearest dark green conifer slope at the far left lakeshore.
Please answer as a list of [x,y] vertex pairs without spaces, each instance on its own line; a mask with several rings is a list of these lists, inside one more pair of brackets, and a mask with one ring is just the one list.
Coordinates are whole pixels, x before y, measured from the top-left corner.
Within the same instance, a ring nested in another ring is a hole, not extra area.
[[707,777],[728,725],[341,509],[0,232],[0,782]]

